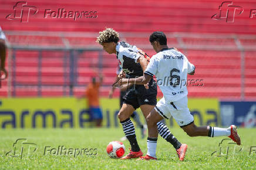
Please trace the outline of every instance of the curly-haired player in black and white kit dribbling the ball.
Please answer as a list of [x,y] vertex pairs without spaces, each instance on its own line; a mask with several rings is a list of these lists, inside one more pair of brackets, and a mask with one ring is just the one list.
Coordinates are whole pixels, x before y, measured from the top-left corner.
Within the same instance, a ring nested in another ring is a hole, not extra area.
[[[119,34],[115,30],[106,28],[106,30],[100,32],[96,42],[102,45],[103,50],[107,53],[116,54],[117,60],[122,67],[119,79],[122,79],[124,75],[127,78],[143,76],[143,72],[146,70],[148,64],[146,53],[139,50],[136,46],[129,45],[129,43],[119,42]],[[129,154],[121,159],[139,158],[143,155],[136,140],[134,125],[130,120],[130,115],[132,115],[134,110],[140,107],[146,118],[150,111],[156,106],[156,96],[157,86],[152,77],[146,86],[135,85],[128,87],[123,97],[123,106],[118,113],[118,118],[132,149]],[[184,157],[186,150],[183,149],[186,148],[186,144],[181,144],[173,134],[171,134],[166,125],[163,123],[158,123],[158,125],[158,131],[161,137],[176,148],[177,153],[180,154],[178,157]],[[149,142],[156,143],[156,140],[157,138],[152,138]],[[183,150],[183,152],[178,152],[180,150]]]

